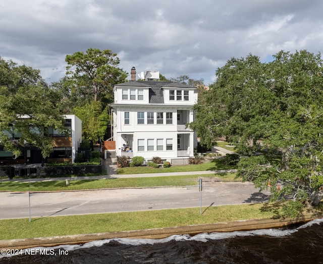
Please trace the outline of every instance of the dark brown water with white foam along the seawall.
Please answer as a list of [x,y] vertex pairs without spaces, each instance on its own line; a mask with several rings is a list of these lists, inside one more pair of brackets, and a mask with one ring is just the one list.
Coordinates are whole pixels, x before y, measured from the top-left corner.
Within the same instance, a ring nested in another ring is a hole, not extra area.
[[47,255],[27,249],[0,263],[323,263],[322,227],[317,219],[291,229],[106,239],[46,248]]

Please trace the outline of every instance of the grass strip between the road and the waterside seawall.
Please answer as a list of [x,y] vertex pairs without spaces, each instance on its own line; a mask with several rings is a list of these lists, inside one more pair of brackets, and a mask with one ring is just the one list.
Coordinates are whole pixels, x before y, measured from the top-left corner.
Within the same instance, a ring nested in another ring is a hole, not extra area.
[[263,204],[0,220],[0,240],[90,234],[275,217]]

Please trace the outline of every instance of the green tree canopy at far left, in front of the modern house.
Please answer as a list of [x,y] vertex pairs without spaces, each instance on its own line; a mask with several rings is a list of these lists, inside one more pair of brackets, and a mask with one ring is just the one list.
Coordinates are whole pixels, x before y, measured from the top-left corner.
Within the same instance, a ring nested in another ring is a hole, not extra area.
[[39,70],[0,58],[0,142],[17,157],[20,151],[12,140],[19,134],[20,145],[38,147],[43,157],[52,151],[48,127],[64,130],[58,111],[60,96],[48,88]]

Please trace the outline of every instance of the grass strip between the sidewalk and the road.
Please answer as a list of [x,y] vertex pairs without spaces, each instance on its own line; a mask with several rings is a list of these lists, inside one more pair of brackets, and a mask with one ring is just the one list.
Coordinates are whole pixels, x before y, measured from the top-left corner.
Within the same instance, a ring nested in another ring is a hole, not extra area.
[[160,177],[138,177],[138,178],[115,178],[100,180],[70,180],[66,181],[38,181],[0,182],[0,191],[65,191],[82,189],[104,189],[104,188],[131,188],[131,187],[156,187],[156,186],[188,186],[195,185],[198,177],[207,177],[219,180],[234,180],[235,173],[198,174],[198,175],[176,175]]

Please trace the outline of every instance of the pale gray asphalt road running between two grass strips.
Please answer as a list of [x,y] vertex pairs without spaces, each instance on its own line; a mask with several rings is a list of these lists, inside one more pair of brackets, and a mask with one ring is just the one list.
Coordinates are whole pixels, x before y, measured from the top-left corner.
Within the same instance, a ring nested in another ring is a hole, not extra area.
[[[249,182],[203,182],[202,206],[260,203],[268,192]],[[198,186],[30,193],[31,217],[200,207]],[[28,192],[0,192],[0,219],[28,218]]]

